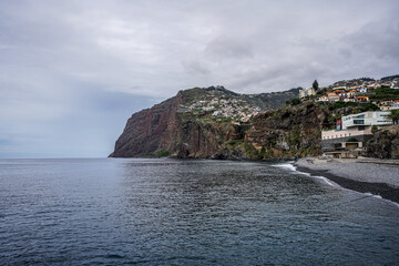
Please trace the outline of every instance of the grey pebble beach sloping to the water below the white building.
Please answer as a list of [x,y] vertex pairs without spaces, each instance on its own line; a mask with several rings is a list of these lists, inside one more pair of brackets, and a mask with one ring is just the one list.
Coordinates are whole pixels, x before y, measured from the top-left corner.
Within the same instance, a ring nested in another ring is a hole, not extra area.
[[380,195],[399,203],[399,161],[356,158],[300,158],[294,163],[300,172],[321,175],[338,185],[361,193]]

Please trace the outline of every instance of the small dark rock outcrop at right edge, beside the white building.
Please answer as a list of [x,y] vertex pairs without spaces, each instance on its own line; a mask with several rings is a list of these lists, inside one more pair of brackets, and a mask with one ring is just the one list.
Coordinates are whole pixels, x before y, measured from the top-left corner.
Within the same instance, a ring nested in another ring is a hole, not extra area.
[[378,158],[399,158],[399,125],[378,131],[367,143],[367,156]]

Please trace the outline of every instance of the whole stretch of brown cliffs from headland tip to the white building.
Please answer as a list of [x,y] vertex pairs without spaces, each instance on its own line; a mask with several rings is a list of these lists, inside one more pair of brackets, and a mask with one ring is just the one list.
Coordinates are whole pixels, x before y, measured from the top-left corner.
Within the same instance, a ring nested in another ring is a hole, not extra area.
[[[288,99],[296,95],[289,93],[285,95]],[[214,115],[218,111],[207,111],[213,105],[222,105],[216,98],[224,99],[223,104],[235,104],[223,105],[223,112],[227,113],[253,112],[265,105],[262,101],[265,94],[262,98],[241,95],[224,88],[181,91],[172,99],[133,114],[110,156],[268,158],[319,151],[320,124],[326,114],[315,104],[285,106],[243,123],[224,116],[216,119]],[[267,103],[269,98],[266,98]],[[215,103],[209,105],[204,99]]]

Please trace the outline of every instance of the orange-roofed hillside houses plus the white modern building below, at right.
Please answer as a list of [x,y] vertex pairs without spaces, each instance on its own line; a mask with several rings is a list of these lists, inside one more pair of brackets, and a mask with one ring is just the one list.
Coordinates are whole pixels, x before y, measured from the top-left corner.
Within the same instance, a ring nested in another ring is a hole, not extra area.
[[[316,82],[316,81],[315,81]],[[315,88],[316,86],[316,88]],[[340,81],[330,86],[299,91],[301,101],[328,102],[337,106],[367,106],[366,112],[345,113],[321,131],[321,152],[334,157],[357,157],[367,153],[365,145],[399,116],[399,75],[372,80]],[[383,156],[383,155],[381,155]]]

